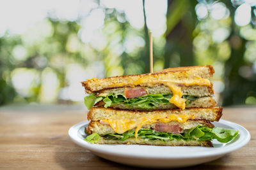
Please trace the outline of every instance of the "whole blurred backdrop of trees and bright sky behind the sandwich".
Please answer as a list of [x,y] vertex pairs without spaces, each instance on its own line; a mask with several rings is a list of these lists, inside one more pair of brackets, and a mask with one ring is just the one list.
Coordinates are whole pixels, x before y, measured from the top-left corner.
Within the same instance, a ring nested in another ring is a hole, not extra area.
[[256,1],[0,1],[0,106],[83,104],[81,81],[211,64],[218,103],[256,104]]

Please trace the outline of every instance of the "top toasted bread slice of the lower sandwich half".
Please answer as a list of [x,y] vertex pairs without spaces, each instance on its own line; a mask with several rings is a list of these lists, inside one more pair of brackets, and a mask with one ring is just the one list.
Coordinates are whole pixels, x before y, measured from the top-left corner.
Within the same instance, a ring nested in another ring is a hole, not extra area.
[[105,119],[112,120],[131,120],[136,118],[147,117],[150,115],[188,115],[195,116],[196,119],[204,119],[209,121],[218,121],[222,115],[222,108],[188,108],[186,110],[156,110],[156,111],[129,111],[115,110],[112,108],[93,107],[90,109],[87,118],[88,120],[98,121]]

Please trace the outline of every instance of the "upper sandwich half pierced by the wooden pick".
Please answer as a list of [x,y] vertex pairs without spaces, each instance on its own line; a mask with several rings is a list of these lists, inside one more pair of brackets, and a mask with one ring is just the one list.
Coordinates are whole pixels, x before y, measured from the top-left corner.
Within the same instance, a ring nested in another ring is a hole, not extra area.
[[82,82],[90,96],[84,104],[121,110],[211,108],[212,66],[174,67],[155,73],[92,78]]

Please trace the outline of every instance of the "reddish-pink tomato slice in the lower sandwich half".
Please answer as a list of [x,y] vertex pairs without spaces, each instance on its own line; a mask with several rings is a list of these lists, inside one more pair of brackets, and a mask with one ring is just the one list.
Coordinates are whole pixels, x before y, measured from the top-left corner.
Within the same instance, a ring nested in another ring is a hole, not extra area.
[[169,132],[173,134],[180,134],[184,132],[183,129],[179,127],[179,125],[168,125],[163,123],[156,124],[155,130],[158,132]]

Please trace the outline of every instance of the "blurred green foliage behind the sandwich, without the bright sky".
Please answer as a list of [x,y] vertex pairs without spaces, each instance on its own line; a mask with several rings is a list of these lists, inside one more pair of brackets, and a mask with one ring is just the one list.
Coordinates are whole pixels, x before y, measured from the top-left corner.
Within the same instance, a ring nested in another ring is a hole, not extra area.
[[[88,42],[83,39],[86,27],[81,18],[47,17],[24,34],[0,36],[0,105],[76,101],[66,92],[76,74],[86,79],[149,72],[145,1],[141,29],[132,27],[124,11],[97,3],[96,9],[104,11],[104,25]],[[168,1],[166,31],[154,38],[154,70],[211,64],[220,103],[256,104],[255,6],[250,24],[239,26],[235,15],[243,3]],[[224,10],[221,18],[216,6]],[[77,72],[71,74],[74,69]]]

